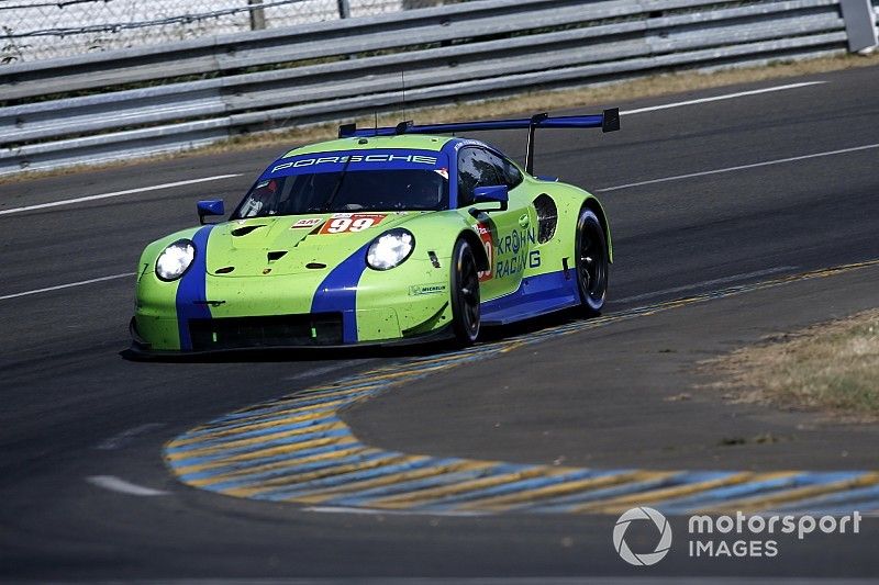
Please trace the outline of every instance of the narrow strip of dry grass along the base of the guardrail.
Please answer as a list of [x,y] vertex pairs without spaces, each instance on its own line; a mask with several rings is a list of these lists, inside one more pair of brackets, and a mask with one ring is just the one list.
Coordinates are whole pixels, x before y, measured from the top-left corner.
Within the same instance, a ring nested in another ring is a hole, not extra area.
[[[641,98],[655,98],[670,93],[680,93],[683,91],[719,88],[736,83],[763,81],[766,79],[815,75],[875,65],[879,65],[879,53],[868,56],[841,55],[836,57],[824,57],[801,61],[774,63],[759,67],[741,67],[712,71],[703,70],[656,75],[611,83],[592,85],[565,90],[538,91],[523,93],[510,98],[481,100],[476,102],[460,102],[447,106],[410,110],[407,113],[407,117],[418,120],[420,123],[444,123],[518,114],[523,112],[533,113],[590,106],[601,108],[605,105],[613,105],[615,102]],[[357,120],[358,126],[371,126],[374,122],[375,121],[372,117]],[[379,116],[380,125],[394,125],[398,122],[400,122],[399,114]],[[40,177],[69,175],[86,169],[93,170],[136,165],[145,160],[153,161],[173,158],[179,159],[180,157],[247,150],[269,146],[307,144],[310,142],[335,137],[337,128],[338,125],[336,123],[327,123],[243,135],[202,148],[196,148],[186,153],[159,155],[130,161],[114,161],[104,165],[69,167],[49,171],[31,171],[8,177],[0,177],[0,184]]]

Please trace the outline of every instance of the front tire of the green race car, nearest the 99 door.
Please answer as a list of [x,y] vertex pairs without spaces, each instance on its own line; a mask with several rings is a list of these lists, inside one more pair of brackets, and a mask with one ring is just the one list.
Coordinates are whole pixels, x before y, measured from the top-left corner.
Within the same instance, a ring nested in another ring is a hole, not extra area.
[[470,245],[459,239],[452,252],[452,328],[461,346],[479,337],[479,268]]

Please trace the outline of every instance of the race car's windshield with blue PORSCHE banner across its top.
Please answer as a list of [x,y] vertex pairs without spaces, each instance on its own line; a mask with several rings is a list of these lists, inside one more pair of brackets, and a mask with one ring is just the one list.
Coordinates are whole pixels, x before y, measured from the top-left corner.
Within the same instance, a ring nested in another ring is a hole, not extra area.
[[419,150],[369,150],[281,159],[263,173],[232,218],[446,210],[447,162],[444,156],[437,155]]

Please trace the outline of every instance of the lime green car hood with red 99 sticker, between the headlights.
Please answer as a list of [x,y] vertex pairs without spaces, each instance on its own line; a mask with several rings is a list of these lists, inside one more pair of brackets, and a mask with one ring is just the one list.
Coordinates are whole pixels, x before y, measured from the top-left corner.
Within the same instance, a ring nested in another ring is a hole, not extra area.
[[216,225],[207,270],[216,277],[332,270],[378,235],[430,212],[352,212],[236,220]]

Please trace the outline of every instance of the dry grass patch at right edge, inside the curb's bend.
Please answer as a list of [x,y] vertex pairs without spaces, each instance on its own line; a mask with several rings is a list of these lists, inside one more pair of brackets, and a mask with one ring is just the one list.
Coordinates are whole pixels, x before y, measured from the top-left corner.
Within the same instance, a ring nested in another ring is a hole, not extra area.
[[743,402],[879,420],[879,310],[769,338],[702,363]]

